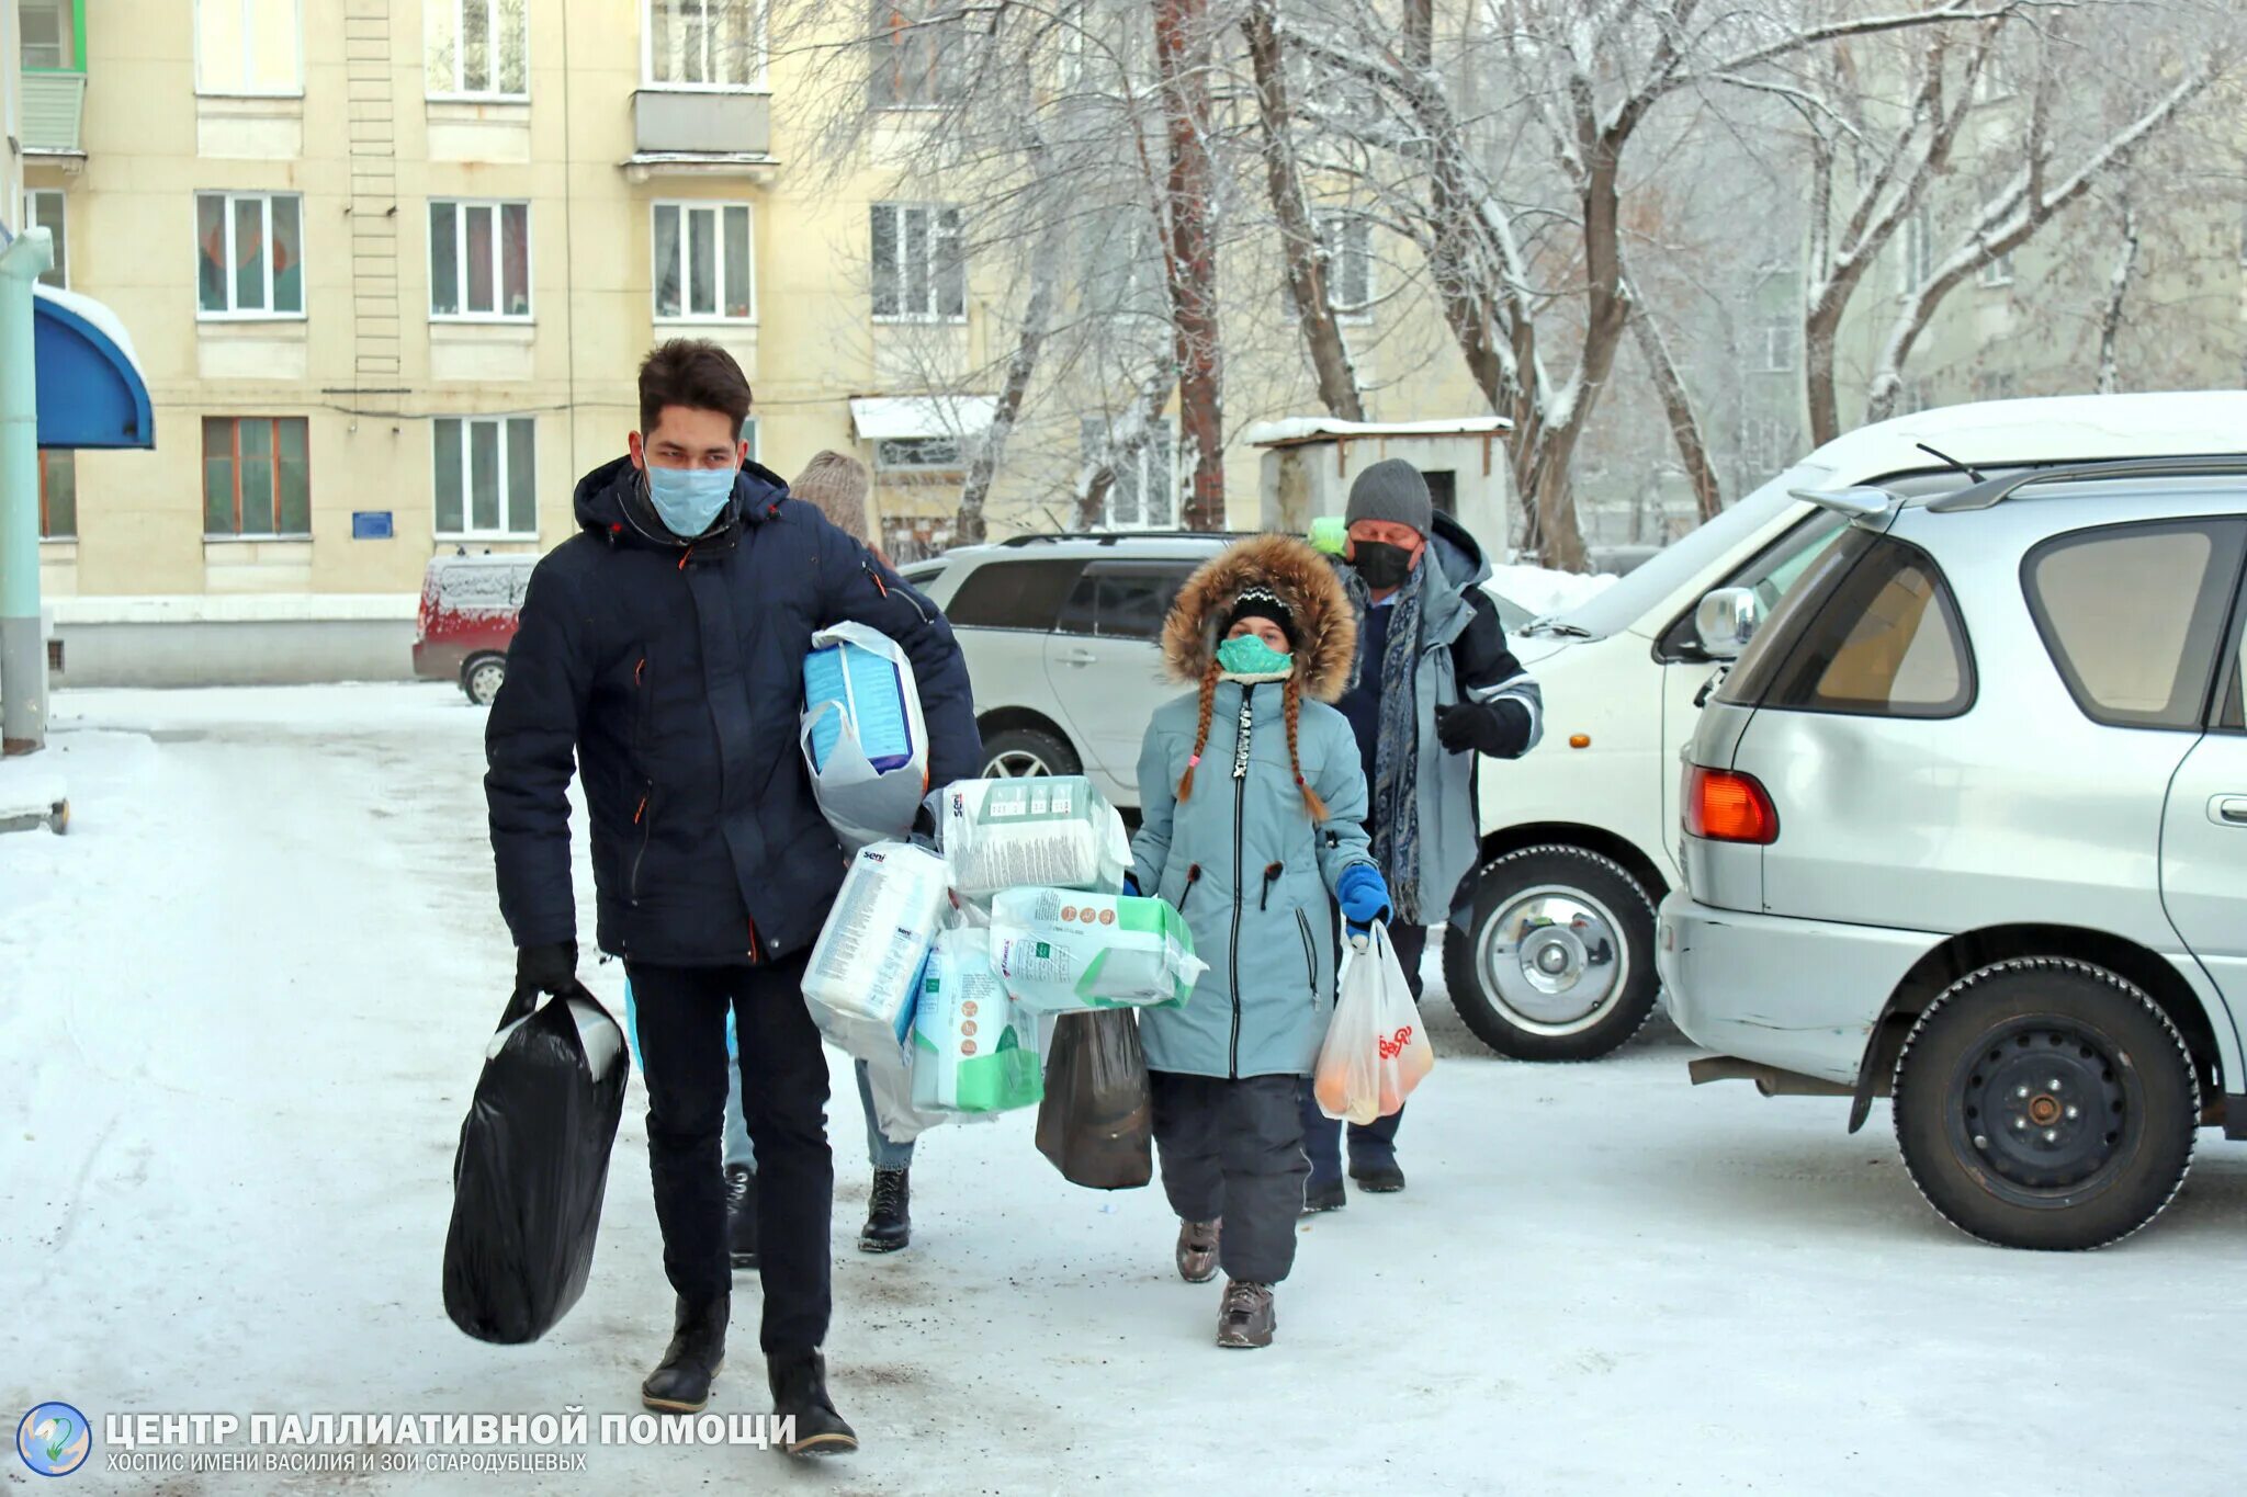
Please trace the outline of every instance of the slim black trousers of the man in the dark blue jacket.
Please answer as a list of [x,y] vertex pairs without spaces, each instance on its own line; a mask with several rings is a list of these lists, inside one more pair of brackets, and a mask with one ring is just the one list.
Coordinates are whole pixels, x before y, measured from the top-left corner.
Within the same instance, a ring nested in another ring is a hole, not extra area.
[[647,1169],[663,1228],[663,1275],[688,1299],[733,1286],[726,1252],[726,1010],[742,1050],[742,1113],[757,1145],[757,1273],[764,1351],[827,1340],[827,1055],[804,1008],[804,956],[768,967],[625,963],[640,1014]]

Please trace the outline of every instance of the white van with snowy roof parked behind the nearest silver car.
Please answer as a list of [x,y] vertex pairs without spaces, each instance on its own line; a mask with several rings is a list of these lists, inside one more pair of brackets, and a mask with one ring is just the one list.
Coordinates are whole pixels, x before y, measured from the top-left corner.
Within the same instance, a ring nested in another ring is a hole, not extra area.
[[[1923,411],[1827,442],[1591,601],[1512,637],[1544,687],[1544,743],[1481,765],[1483,866],[1443,965],[1467,1026],[1521,1059],[1595,1059],[1654,1012],[1654,907],[1679,880],[1679,752],[1717,662],[1694,610],[1753,588],[1764,610],[1843,514],[1791,489],[1910,494],[1993,471],[2247,449],[2247,393],[2069,395]],[[1955,460],[1955,462],[1953,462]]]

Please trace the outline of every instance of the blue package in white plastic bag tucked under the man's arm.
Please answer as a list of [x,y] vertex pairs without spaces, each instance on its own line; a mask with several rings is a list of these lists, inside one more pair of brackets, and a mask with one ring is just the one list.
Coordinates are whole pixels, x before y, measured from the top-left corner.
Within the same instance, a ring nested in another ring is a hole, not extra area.
[[798,743],[811,795],[845,851],[912,830],[928,795],[928,725],[897,640],[867,624],[811,635]]

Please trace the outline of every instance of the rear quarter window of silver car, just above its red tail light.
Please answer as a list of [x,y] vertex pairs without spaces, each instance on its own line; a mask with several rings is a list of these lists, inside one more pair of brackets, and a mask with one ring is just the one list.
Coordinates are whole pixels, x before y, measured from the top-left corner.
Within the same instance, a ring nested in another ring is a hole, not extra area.
[[1935,559],[1852,530],[1786,590],[1719,700],[1955,718],[1973,705],[1973,651]]

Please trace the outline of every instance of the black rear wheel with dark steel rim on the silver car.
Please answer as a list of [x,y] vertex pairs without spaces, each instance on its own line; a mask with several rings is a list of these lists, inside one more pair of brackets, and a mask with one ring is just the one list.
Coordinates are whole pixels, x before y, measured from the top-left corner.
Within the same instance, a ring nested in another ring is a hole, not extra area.
[[2200,1077],[2135,983],[2027,956],[1962,976],[1919,1014],[1896,1057],[1894,1122],[1912,1185],[1957,1230],[2002,1248],[2103,1248],[2184,1185]]

